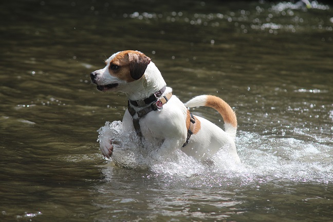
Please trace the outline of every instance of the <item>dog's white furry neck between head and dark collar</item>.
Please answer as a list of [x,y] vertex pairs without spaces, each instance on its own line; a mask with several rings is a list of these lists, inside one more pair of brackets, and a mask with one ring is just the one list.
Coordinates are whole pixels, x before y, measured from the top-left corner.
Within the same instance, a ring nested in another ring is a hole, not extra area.
[[142,100],[150,97],[166,85],[161,72],[153,62],[150,62],[142,78],[128,84],[124,93],[130,100]]

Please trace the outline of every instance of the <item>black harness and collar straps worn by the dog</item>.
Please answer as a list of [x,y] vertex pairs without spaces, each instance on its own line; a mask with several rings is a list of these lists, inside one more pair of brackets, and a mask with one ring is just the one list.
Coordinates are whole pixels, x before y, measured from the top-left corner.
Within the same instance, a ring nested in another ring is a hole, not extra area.
[[[156,111],[156,110],[162,111],[163,105],[165,103],[167,103],[172,97],[172,92],[170,92],[162,97],[164,91],[165,91],[165,86],[161,90],[157,91],[156,93],[154,93],[153,95],[151,95],[150,97],[148,97],[146,99],[128,100],[128,104],[127,104],[128,112],[132,116],[134,130],[135,130],[136,134],[138,135],[138,137],[140,137],[141,142],[142,142],[143,136],[142,136],[140,123],[139,123],[140,118],[144,117],[145,115],[149,114],[152,111]],[[142,106],[147,106],[147,105],[149,105],[149,106],[136,111],[130,104],[134,105],[136,107],[142,107]],[[190,137],[193,134],[195,119],[191,113],[190,113],[190,116],[191,116],[191,122],[190,122],[190,127],[188,130],[188,134],[187,134],[187,139],[182,147],[186,146],[189,143]]]

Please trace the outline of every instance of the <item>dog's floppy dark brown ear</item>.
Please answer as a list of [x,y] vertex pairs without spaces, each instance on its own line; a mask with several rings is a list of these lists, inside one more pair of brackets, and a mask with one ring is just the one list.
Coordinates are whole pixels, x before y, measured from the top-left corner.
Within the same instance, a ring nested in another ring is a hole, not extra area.
[[151,59],[143,53],[128,52],[128,60],[130,61],[131,77],[135,80],[140,79]]

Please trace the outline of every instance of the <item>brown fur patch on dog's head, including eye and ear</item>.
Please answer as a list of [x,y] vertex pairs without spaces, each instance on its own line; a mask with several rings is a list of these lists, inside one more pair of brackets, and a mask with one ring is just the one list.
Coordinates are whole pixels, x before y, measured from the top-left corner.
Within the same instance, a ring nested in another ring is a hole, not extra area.
[[143,76],[150,61],[150,58],[141,52],[127,50],[119,52],[109,62],[108,69],[112,76],[133,82]]

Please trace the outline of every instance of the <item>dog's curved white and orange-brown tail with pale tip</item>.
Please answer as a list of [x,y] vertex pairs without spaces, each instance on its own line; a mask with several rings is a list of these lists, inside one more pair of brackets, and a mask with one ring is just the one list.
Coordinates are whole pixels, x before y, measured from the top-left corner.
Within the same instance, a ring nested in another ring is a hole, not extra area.
[[223,99],[210,96],[201,95],[192,98],[184,104],[186,107],[208,106],[217,110],[225,122],[225,132],[232,138],[236,138],[237,131],[237,118],[234,110]]

